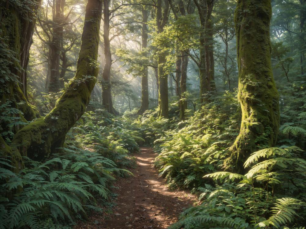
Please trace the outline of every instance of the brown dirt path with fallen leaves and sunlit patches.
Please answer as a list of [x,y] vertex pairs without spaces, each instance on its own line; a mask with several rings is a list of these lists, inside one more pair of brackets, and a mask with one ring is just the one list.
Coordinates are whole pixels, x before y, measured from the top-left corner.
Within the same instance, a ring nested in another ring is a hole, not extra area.
[[134,156],[137,162],[132,171],[134,176],[116,184],[118,199],[112,212],[92,215],[76,229],[167,228],[184,209],[197,203],[197,198],[188,192],[167,189],[153,167],[157,154],[151,148],[141,147]]

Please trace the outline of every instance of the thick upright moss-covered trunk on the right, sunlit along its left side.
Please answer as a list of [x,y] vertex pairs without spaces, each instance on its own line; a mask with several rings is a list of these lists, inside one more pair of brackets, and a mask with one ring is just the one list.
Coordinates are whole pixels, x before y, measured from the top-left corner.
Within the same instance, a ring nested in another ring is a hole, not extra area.
[[274,146],[278,135],[278,91],[270,57],[271,1],[238,0],[234,20],[242,121],[229,165],[243,172],[248,156],[259,148]]

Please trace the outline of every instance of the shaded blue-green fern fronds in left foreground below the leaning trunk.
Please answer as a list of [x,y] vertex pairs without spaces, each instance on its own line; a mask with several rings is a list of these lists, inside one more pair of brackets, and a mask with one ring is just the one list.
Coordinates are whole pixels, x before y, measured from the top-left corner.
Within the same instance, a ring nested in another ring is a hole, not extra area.
[[[125,171],[99,153],[76,147],[63,148],[46,162],[24,160],[18,174],[1,169],[1,228],[43,228],[49,219],[71,224],[99,198],[107,199],[112,174]],[[9,163],[1,158],[2,165]]]

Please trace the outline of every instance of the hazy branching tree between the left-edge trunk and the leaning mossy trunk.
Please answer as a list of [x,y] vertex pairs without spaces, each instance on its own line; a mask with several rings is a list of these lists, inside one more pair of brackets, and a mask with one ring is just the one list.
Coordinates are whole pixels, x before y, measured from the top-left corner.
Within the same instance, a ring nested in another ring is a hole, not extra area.
[[[48,17],[49,7],[51,7],[52,10],[52,20],[49,20]],[[45,84],[47,92],[58,92],[64,87],[62,78],[65,76],[67,67],[72,65],[68,63],[66,53],[72,49],[76,40],[80,38],[68,28],[69,25],[74,24],[79,18],[78,17],[73,22],[69,22],[69,17],[71,17],[74,6],[72,6],[65,15],[66,8],[66,0],[54,0],[53,4],[47,1],[46,12],[42,13],[43,16],[38,17],[38,24],[45,38],[40,35],[37,28],[35,28],[37,37],[49,47],[49,53],[47,54],[48,73]],[[71,37],[70,34],[72,34]],[[65,42],[65,40],[69,42]],[[67,47],[64,47],[65,45],[67,45]],[[60,60],[62,60],[62,63]]]

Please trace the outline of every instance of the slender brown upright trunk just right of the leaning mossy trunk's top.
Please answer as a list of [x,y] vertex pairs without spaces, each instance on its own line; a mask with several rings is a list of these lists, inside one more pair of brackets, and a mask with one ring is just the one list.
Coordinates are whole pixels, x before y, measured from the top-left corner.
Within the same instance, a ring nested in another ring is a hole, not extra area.
[[103,0],[103,40],[104,40],[104,55],[105,64],[102,74],[102,104],[108,112],[114,114],[113,111],[113,100],[110,90],[110,69],[112,65],[112,54],[110,52],[110,14],[108,0]]

